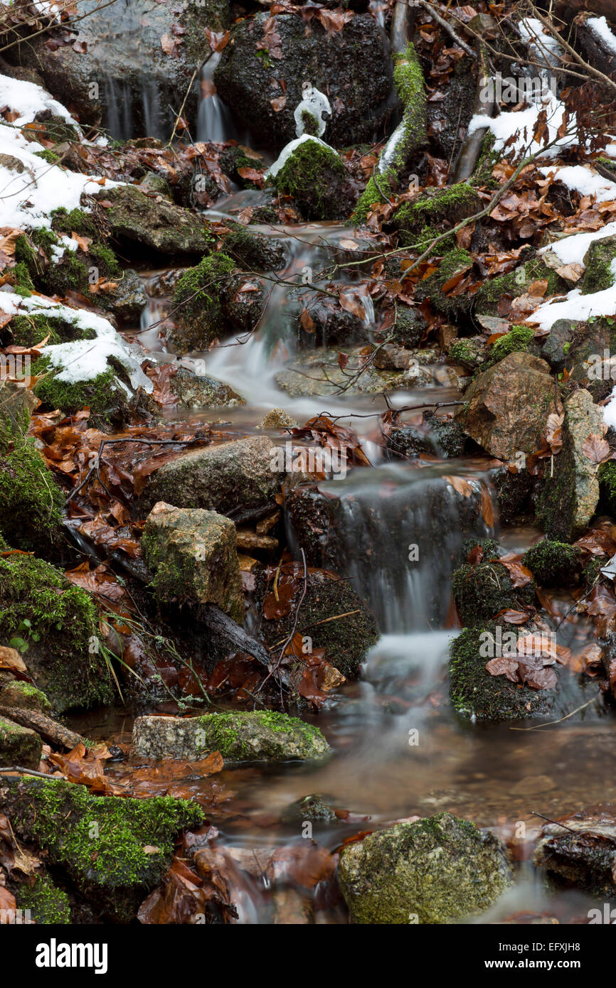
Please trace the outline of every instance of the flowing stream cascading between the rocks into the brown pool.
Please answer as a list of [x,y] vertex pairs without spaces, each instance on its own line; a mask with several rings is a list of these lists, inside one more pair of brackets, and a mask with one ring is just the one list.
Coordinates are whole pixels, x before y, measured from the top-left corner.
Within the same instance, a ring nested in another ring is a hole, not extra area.
[[[206,82],[211,81],[214,67],[213,56],[204,72]],[[208,89],[209,85],[199,111],[200,136],[223,139],[228,137],[228,124],[216,93]],[[211,218],[228,220],[257,196],[238,193],[210,210]],[[447,657],[458,631],[449,618],[450,577],[460,562],[466,535],[488,535],[493,529],[498,535],[497,520],[489,528],[482,512],[489,476],[482,464],[473,461],[449,459],[422,468],[416,463],[385,462],[378,418],[385,405],[380,396],[352,391],[291,396],[278,386],[276,374],[298,353],[294,318],[301,301],[285,283],[295,279],[302,285],[304,274],[308,276],[304,285],[309,285],[314,272],[331,264],[332,256],[343,264],[348,249],[343,241],[357,235],[326,223],[257,229],[281,239],[287,252],[286,268],[279,273],[282,281],[268,287],[258,325],[252,333],[233,336],[213,352],[191,355],[184,362],[191,366],[191,361],[204,360],[206,372],[231,384],[246,398],[246,405],[214,415],[211,409],[204,410],[195,418],[212,421],[222,416],[238,435],[245,435],[277,406],[299,422],[324,411],[341,416],[356,429],[374,465],[356,467],[344,480],[331,479],[321,486],[336,505],[341,575],[369,601],[381,637],[366,658],[362,678],[339,688],[319,714],[308,715],[332,746],[328,761],[318,766],[251,766],[216,777],[233,793],[229,802],[211,812],[220,828],[220,844],[236,861],[244,860],[248,851],[258,854],[263,849],[303,846],[302,821],[281,823],[281,817],[290,804],[310,793],[324,794],[337,809],[351,814],[333,825],[312,824],[314,839],[329,849],[358,830],[445,809],[491,827],[504,838],[511,838],[522,822],[530,841],[541,825],[535,811],[554,818],[616,800],[612,772],[616,734],[600,700],[568,721],[541,729],[536,722],[473,724],[460,720],[452,710],[447,699]],[[170,290],[166,294],[160,290],[160,274],[144,273],[150,303],[137,336],[154,358],[166,353]],[[333,283],[352,286],[353,279],[342,269]],[[376,316],[369,296],[364,296],[363,316],[370,334]],[[399,406],[453,397],[455,392],[435,377],[432,384],[393,394],[390,400]],[[446,476],[452,474],[468,481],[470,496],[449,484]],[[299,558],[297,533],[289,522],[288,535]],[[510,530],[503,541],[520,550],[538,536]],[[413,547],[418,555],[411,560]],[[565,614],[572,599],[564,594],[558,606]],[[559,641],[575,650],[592,640],[591,627],[573,611],[559,631]],[[580,692],[580,705],[591,698],[592,694]],[[124,708],[94,711],[75,723],[90,736],[128,740],[132,715]],[[187,784],[204,797],[210,791],[207,780]],[[530,844],[522,841],[521,847],[528,850]],[[514,891],[482,921],[520,911],[548,910],[563,921],[585,914],[583,896],[547,896],[530,865],[521,869],[520,876]],[[274,921],[276,909],[282,910],[283,919],[279,913],[278,921],[285,922],[285,910],[291,914],[294,906],[289,900],[273,905],[270,891],[263,881],[247,881],[238,903],[239,922]],[[316,918],[345,922],[339,907],[331,903],[318,907]]]

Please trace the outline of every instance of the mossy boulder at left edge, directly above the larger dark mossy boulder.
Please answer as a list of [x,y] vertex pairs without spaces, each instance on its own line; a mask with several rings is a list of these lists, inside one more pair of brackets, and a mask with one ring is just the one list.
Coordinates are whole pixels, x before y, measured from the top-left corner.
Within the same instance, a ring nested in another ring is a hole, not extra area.
[[0,531],[21,549],[48,550],[59,541],[63,498],[26,429],[26,420],[0,416]]

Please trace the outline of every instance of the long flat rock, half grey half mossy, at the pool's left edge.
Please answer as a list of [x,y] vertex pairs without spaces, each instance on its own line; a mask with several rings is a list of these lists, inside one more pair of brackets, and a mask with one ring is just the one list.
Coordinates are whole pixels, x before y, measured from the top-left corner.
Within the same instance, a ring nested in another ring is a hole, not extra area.
[[298,717],[271,710],[208,713],[203,717],[137,717],[132,755],[199,760],[219,751],[225,762],[289,762],[321,759],[325,738]]

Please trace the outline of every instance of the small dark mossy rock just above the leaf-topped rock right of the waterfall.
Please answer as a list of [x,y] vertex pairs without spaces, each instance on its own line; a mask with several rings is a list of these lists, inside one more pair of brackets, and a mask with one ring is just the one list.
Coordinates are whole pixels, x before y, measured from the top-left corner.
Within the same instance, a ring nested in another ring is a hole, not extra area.
[[500,611],[518,611],[535,599],[535,585],[514,587],[507,569],[497,562],[464,563],[452,576],[454,600],[462,623],[483,624]]

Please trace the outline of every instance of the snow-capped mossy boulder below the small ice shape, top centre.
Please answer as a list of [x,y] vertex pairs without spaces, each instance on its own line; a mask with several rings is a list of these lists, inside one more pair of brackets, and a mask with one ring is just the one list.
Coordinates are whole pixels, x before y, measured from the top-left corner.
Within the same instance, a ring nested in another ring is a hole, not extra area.
[[[268,173],[280,193],[293,197],[305,219],[341,219],[351,206],[351,188],[342,158],[318,137],[294,141]],[[289,153],[291,151],[291,153]]]

